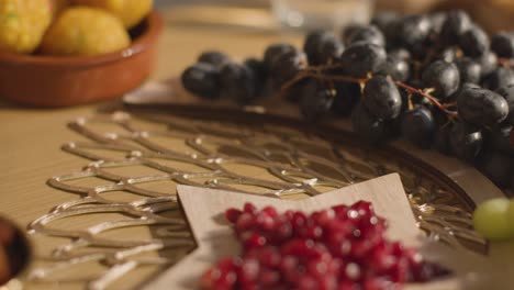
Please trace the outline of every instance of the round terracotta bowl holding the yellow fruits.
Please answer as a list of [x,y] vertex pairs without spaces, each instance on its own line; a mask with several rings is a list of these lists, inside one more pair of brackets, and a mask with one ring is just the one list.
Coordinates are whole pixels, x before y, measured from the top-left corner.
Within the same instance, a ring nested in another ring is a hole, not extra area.
[[31,107],[109,100],[136,88],[153,69],[163,19],[152,12],[131,31],[130,47],[105,55],[0,54],[0,97]]

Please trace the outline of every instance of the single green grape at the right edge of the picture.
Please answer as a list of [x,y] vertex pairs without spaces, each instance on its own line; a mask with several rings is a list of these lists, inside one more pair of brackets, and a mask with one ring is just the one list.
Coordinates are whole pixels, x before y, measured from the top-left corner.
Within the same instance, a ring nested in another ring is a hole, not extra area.
[[490,241],[507,241],[514,237],[514,225],[510,216],[514,216],[510,211],[509,199],[491,199],[474,210],[474,230]]

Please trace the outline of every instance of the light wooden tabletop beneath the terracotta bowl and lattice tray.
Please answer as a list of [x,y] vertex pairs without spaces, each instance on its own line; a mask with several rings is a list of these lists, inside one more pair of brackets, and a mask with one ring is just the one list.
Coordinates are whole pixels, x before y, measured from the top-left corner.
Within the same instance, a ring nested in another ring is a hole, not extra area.
[[[172,20],[169,14],[167,20]],[[261,56],[265,47],[273,42],[300,45],[298,34],[220,29],[215,26],[178,26],[168,23],[159,40],[156,68],[150,79],[167,79],[179,75],[205,49],[220,49],[236,58]],[[27,109],[0,103],[0,213],[11,217],[24,228],[36,217],[55,205],[71,200],[69,193],[53,189],[46,180],[56,175],[80,170],[88,160],[60,150],[66,142],[81,137],[66,124],[79,116],[92,115],[116,101],[66,109]],[[34,244],[36,255],[45,254],[52,244]],[[514,258],[514,246],[499,245],[493,252]],[[47,254],[47,253],[46,253]],[[514,261],[510,265],[514,274]],[[137,276],[137,275],[136,275]],[[512,275],[514,277],[514,275]],[[137,277],[136,277],[137,278]],[[514,285],[511,277],[511,285]],[[505,280],[505,282],[507,282]],[[115,289],[124,289],[123,283]],[[82,289],[83,286],[35,286],[34,289]],[[32,287],[31,287],[32,289]],[[509,289],[509,288],[491,288]]]

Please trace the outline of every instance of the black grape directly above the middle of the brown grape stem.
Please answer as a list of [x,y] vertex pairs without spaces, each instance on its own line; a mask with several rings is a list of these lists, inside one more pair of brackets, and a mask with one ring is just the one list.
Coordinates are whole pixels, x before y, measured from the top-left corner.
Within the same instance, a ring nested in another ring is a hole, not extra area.
[[386,64],[386,49],[381,46],[358,42],[346,48],[340,56],[343,72],[356,78],[364,78],[368,72],[379,71]]

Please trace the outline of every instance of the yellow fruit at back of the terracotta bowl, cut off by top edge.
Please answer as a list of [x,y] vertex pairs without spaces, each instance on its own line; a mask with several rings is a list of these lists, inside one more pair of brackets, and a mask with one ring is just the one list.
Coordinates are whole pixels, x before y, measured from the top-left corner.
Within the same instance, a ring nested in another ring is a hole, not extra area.
[[139,23],[152,10],[153,0],[71,0],[74,4],[98,7],[121,19],[130,29]]

